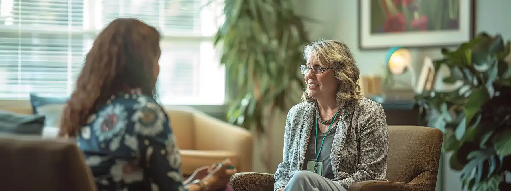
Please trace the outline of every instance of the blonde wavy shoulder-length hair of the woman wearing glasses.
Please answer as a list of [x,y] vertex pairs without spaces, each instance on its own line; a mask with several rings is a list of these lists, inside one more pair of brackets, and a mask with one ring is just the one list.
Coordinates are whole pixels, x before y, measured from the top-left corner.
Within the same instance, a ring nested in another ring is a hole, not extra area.
[[[346,44],[337,40],[320,40],[304,47],[304,53],[307,61],[313,56],[321,67],[333,68],[335,78],[340,82],[335,98],[339,107],[343,108],[346,103],[362,98],[360,85],[357,84],[360,69]],[[316,100],[309,96],[307,88],[302,99]]]

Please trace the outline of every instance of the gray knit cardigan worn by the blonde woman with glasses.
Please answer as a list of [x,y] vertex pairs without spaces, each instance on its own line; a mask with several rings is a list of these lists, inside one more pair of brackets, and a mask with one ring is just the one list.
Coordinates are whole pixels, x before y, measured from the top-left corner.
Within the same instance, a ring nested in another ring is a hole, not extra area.
[[[274,189],[286,186],[301,170],[315,120],[315,102],[291,108],[284,133],[284,157],[275,172]],[[342,109],[337,123],[331,162],[335,181],[344,187],[365,180],[386,180],[389,135],[383,107],[367,98]]]

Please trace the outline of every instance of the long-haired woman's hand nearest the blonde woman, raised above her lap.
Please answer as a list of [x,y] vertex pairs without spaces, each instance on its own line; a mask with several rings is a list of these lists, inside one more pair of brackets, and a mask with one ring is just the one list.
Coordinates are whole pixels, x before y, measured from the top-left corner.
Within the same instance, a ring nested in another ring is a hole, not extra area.
[[237,172],[236,169],[228,169],[231,166],[229,159],[224,160],[211,170],[203,180],[207,183],[209,190],[221,189],[227,186],[230,177]]

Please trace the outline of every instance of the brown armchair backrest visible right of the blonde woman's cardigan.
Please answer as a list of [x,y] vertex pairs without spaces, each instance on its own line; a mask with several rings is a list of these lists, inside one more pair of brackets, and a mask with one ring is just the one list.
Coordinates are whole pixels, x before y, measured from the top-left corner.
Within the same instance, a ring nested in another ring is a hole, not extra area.
[[438,172],[444,134],[436,128],[421,126],[388,126],[390,147],[387,180],[410,182],[417,175]]

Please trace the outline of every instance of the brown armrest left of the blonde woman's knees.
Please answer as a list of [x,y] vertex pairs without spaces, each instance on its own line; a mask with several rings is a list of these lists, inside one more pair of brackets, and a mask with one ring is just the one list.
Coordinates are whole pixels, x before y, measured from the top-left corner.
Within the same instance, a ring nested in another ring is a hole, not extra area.
[[273,174],[267,173],[235,173],[230,177],[230,185],[234,191],[272,191]]

